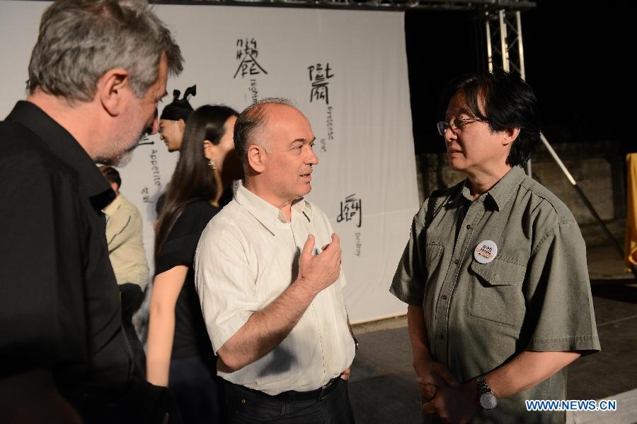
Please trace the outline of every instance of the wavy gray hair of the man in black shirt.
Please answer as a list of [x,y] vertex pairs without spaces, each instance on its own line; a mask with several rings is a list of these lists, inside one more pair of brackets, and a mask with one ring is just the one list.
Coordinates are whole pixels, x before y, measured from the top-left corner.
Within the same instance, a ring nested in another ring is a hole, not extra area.
[[141,98],[157,81],[164,54],[168,73],[178,75],[180,49],[146,0],[57,0],[42,14],[28,90],[88,101],[105,72],[122,68]]

